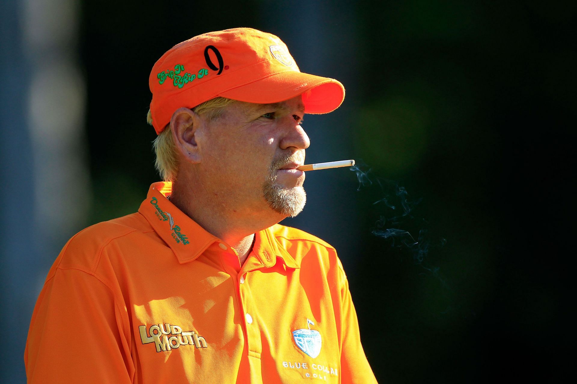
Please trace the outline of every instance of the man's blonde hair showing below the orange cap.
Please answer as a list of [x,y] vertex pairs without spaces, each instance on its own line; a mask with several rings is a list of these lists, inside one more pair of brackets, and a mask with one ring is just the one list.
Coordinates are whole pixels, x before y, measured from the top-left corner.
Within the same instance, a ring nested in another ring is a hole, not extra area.
[[[192,108],[197,115],[206,115],[208,120],[217,120],[223,112],[224,107],[233,104],[235,100],[225,97],[215,97]],[[152,116],[150,109],[146,117],[148,124],[152,126]],[[164,181],[175,181],[178,172],[178,157],[176,146],[174,145],[170,124],[164,127],[156,139],[152,142],[152,147],[156,154],[154,165]]]

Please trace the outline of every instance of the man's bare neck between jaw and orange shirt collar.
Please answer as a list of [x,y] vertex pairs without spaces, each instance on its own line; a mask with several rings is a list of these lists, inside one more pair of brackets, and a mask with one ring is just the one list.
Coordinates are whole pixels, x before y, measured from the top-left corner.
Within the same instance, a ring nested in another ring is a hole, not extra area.
[[[181,181],[182,182],[182,181]],[[181,187],[184,185],[185,187]],[[206,198],[203,193],[195,193],[186,185],[191,183],[173,183],[170,201],[183,213],[193,219],[209,233],[222,239],[238,253],[241,265],[244,264],[254,244],[254,233],[276,222],[263,222],[254,215],[239,214],[227,204]],[[196,184],[198,185],[198,184]],[[272,221],[269,219],[269,221]]]

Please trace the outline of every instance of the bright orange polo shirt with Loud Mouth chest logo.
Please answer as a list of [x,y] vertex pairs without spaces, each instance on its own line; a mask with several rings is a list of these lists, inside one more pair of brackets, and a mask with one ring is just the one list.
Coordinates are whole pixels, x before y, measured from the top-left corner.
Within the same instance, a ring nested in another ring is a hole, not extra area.
[[29,383],[374,383],[335,249],[256,233],[241,266],[155,183],[138,212],[76,234],[32,314]]

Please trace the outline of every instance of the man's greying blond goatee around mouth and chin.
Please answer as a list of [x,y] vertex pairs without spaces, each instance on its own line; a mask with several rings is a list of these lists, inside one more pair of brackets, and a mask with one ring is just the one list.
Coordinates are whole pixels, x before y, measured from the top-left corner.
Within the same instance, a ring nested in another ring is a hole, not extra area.
[[271,167],[271,172],[263,185],[264,199],[273,211],[283,216],[294,217],[305,208],[306,193],[305,188],[302,186],[284,188],[277,183],[278,175],[276,170],[278,170],[279,166],[282,166],[279,164],[286,164],[286,162],[288,161],[284,158],[279,159]]

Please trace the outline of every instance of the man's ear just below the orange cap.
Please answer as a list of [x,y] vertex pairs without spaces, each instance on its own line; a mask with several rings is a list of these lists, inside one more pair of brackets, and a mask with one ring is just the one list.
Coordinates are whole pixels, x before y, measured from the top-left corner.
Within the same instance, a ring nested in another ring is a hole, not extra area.
[[178,108],[170,119],[174,145],[182,157],[193,164],[200,163],[203,121],[188,108]]

